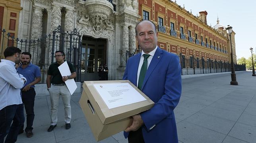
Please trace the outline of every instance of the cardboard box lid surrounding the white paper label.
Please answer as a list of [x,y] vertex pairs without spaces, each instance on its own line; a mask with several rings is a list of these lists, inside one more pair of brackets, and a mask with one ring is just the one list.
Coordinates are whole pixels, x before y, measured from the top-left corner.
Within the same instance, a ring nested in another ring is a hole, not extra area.
[[[146,100],[142,102],[136,102],[116,108],[109,109],[106,103],[103,101],[99,92],[93,86],[94,84],[110,84],[110,83],[129,83],[135,88]],[[109,124],[111,122],[136,115],[143,111],[146,111],[153,107],[154,102],[150,100],[142,91],[140,91],[135,85],[128,80],[116,80],[116,81],[84,81],[83,90],[85,90],[89,102],[91,103],[95,113],[99,116],[102,124]]]

